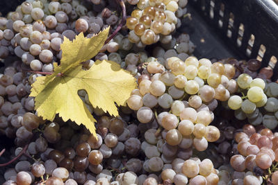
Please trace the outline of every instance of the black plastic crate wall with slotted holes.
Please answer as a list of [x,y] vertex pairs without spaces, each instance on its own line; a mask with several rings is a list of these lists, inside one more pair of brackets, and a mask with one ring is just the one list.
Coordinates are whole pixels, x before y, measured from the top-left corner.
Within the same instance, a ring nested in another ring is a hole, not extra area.
[[[257,58],[278,78],[278,6],[272,0],[189,0],[192,20],[181,30],[207,58]],[[191,24],[191,25],[190,25]],[[191,29],[191,30],[190,30]]]

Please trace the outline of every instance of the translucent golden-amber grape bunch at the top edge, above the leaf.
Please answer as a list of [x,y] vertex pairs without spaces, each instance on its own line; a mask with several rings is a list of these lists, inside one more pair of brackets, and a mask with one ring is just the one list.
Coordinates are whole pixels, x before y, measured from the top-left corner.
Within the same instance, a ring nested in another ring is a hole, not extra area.
[[[183,2],[183,1],[182,1]],[[184,8],[186,2],[182,3]],[[170,35],[178,24],[178,17],[175,12],[179,9],[177,1],[170,0],[140,0],[137,9],[131,12],[131,17],[126,19],[126,26],[129,28],[129,40],[138,46],[154,44],[163,37]],[[179,9],[177,14],[182,17],[185,10]]]

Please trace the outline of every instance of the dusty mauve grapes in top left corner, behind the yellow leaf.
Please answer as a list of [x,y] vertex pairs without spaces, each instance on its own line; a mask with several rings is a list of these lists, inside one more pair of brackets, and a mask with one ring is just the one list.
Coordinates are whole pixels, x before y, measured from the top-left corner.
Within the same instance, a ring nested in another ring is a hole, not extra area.
[[[62,57],[63,37],[72,40],[80,32],[92,37],[109,25],[117,26],[118,17],[111,12],[113,9],[104,13],[99,6],[106,6],[106,1],[94,6],[85,1],[24,1],[7,18],[0,19],[0,58],[15,54],[31,71],[53,72],[53,62]],[[119,44],[111,41],[102,52],[117,49]],[[99,53],[96,59],[106,59],[103,55]],[[91,65],[88,61],[87,66]]]

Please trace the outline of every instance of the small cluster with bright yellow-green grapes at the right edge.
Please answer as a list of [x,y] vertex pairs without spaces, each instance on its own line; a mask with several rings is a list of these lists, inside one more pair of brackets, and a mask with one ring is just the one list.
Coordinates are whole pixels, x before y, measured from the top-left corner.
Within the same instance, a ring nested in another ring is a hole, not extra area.
[[252,79],[243,73],[238,76],[237,84],[239,91],[247,96],[233,95],[229,98],[227,105],[235,110],[235,117],[242,121],[247,118],[252,125],[263,123],[265,127],[274,130],[278,125],[277,83],[266,83],[261,78]]

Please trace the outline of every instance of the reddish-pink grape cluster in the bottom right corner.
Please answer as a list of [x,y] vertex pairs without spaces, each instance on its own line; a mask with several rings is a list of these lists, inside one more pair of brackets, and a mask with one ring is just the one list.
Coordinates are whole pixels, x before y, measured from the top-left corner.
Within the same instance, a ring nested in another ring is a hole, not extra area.
[[[256,130],[252,125],[248,125],[243,128],[243,132],[236,133],[235,140],[238,155],[231,157],[231,166],[237,172],[247,170],[252,176],[246,176],[239,181],[245,184],[261,184],[262,177],[268,175],[268,169],[272,172],[272,183],[277,184],[277,173],[272,171],[275,168],[273,164],[277,161],[277,132],[273,133],[268,128]],[[267,178],[270,179],[270,177]]]

